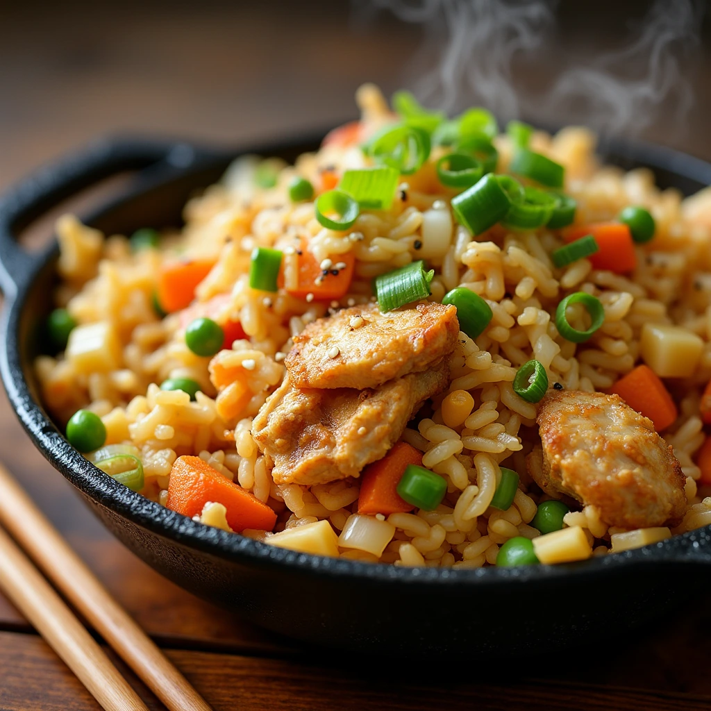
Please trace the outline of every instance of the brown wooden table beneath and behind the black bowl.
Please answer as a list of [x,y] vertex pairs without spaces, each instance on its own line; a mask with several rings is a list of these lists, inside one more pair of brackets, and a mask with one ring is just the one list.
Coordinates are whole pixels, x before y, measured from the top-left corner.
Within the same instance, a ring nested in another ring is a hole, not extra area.
[[[353,114],[359,82],[373,79],[387,90],[400,83],[403,58],[419,37],[392,23],[348,30],[346,4],[211,2],[170,13],[158,3],[127,1],[120,11],[97,5],[37,11],[29,3],[2,11],[0,189],[112,130],[238,144],[335,122]],[[576,43],[572,33],[567,40]],[[702,125],[711,105],[709,82],[700,87],[705,93],[692,127]],[[658,122],[650,135],[670,134]],[[675,142],[711,157],[707,132],[682,132]],[[711,598],[704,589],[690,590],[674,616],[649,629],[620,630],[595,646],[549,657],[482,665],[324,653],[202,602],[134,557],[33,449],[5,400],[0,456],[217,710],[711,707]],[[159,708],[126,673],[148,705]],[[0,597],[0,709],[97,708]]]

